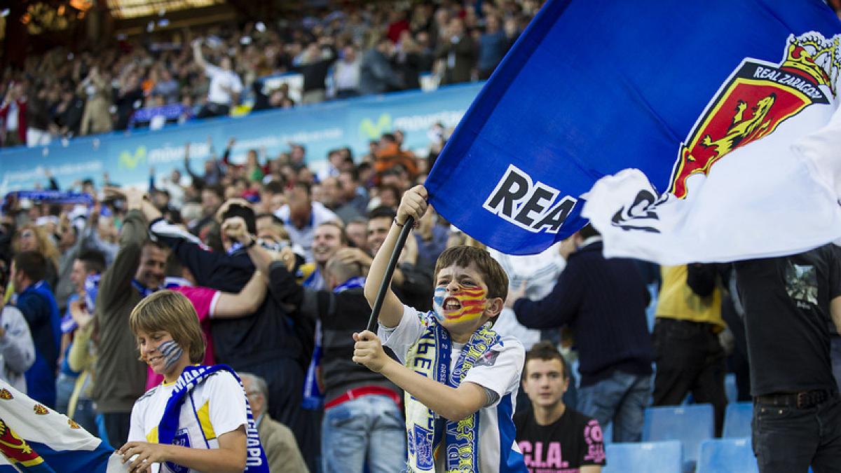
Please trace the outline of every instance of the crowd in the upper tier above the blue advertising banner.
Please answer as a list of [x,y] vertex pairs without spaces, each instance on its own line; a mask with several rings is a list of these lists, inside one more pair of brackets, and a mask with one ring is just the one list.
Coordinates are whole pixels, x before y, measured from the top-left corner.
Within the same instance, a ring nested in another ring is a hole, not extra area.
[[[479,5],[479,6],[478,6]],[[364,3],[318,15],[57,47],[0,76],[0,146],[489,77],[535,0]],[[262,78],[299,73],[300,90]]]

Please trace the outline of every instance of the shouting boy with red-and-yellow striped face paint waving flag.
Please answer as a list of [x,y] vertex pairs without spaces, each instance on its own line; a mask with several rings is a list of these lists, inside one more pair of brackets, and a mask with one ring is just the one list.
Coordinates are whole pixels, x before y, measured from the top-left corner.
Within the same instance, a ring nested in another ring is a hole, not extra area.
[[[365,284],[373,305],[408,217],[426,212],[426,189],[415,186],[400,202]],[[353,360],[405,391],[410,471],[526,472],[514,441],[514,423],[525,350],[491,328],[502,311],[508,277],[489,253],[452,247],[436,262],[433,310],[404,306],[389,290],[378,334],[355,333]],[[383,352],[392,348],[399,363]]]

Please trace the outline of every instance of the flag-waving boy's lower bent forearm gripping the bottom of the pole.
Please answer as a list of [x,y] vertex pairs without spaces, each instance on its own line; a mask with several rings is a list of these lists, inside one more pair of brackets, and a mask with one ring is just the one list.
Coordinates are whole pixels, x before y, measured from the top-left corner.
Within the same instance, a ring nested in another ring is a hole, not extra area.
[[479,411],[489,401],[484,387],[480,385],[468,381],[453,388],[399,364],[385,354],[373,332],[354,333],[353,339],[357,342],[353,361],[385,376],[441,417],[457,422]]

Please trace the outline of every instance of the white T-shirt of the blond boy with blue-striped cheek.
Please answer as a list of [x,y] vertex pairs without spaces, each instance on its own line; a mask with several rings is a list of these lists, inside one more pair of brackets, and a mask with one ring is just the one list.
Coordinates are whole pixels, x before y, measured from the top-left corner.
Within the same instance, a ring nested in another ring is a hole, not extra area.
[[[129,442],[158,443],[158,424],[174,389],[175,383],[156,385],[135,401]],[[246,396],[240,383],[227,371],[218,371],[184,399],[174,444],[193,449],[218,449],[220,435],[245,426],[247,422]],[[161,473],[198,473],[179,465],[166,464],[160,468]]]

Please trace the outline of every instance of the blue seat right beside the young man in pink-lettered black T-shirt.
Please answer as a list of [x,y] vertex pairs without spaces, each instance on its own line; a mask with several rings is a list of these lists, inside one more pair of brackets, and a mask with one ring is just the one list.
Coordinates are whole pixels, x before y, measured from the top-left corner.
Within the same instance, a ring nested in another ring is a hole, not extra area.
[[606,446],[605,454],[607,465],[601,470],[602,473],[680,473],[683,468],[683,449],[677,440],[610,444]]

